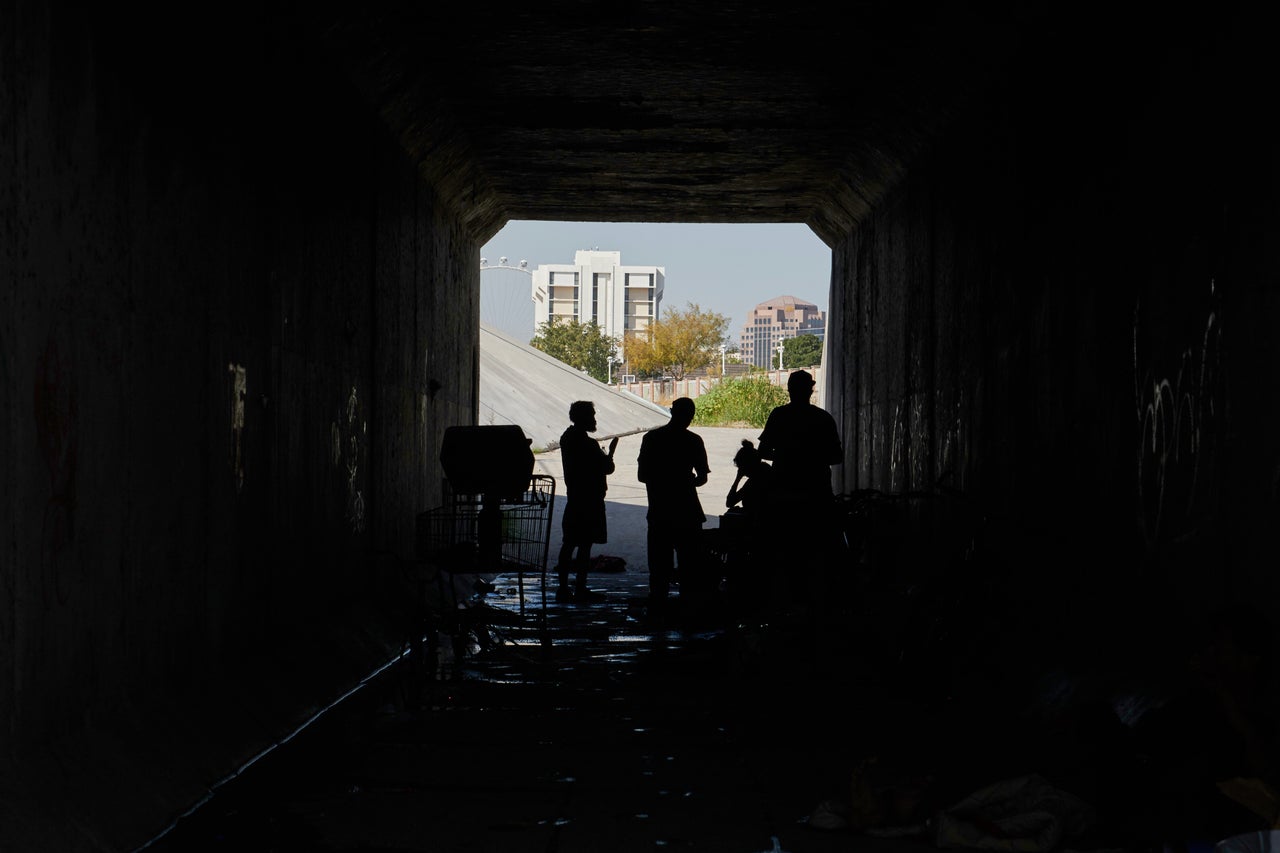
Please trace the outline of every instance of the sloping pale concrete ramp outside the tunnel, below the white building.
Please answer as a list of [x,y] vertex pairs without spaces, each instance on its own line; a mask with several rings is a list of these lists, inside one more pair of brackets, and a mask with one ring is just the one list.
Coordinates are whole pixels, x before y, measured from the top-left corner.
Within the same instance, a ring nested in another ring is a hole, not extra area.
[[480,425],[516,424],[534,439],[534,451],[556,448],[568,426],[575,400],[595,403],[594,438],[631,435],[662,426],[671,414],[480,324]]

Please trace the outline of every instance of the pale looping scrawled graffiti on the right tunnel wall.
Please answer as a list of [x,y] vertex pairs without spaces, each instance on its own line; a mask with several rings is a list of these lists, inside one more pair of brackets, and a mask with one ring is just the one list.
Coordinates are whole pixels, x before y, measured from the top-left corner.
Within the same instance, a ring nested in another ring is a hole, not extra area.
[[1142,311],[1134,307],[1138,525],[1148,552],[1189,533],[1211,497],[1206,492],[1217,461],[1213,439],[1225,394],[1222,323],[1212,280],[1210,296],[1203,333],[1166,369],[1142,351]]

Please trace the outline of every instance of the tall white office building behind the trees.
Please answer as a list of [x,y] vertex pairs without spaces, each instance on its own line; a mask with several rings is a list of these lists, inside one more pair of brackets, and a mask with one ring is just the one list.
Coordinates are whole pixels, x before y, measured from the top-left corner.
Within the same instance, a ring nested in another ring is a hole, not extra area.
[[663,266],[623,266],[622,252],[580,250],[572,264],[534,270],[534,328],[552,316],[595,323],[609,337],[643,332],[658,318]]

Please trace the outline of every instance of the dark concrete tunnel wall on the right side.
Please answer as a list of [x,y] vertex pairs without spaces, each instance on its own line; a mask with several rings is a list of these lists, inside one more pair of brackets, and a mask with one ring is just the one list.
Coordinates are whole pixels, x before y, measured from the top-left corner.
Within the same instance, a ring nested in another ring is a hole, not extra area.
[[1075,671],[1275,616],[1280,163],[1239,24],[1006,81],[833,251],[841,489],[959,489],[940,517],[988,515],[1010,647]]

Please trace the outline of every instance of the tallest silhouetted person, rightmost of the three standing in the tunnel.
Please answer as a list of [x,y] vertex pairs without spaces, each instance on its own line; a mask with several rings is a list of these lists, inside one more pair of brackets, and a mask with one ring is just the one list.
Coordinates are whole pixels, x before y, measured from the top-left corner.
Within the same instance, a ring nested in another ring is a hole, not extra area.
[[773,462],[777,511],[813,530],[808,553],[795,555],[791,566],[792,594],[797,603],[810,606],[823,602],[826,573],[837,553],[831,466],[845,461],[836,419],[810,403],[813,387],[813,374],[792,371],[787,378],[791,402],[771,411],[760,433],[760,457]]

